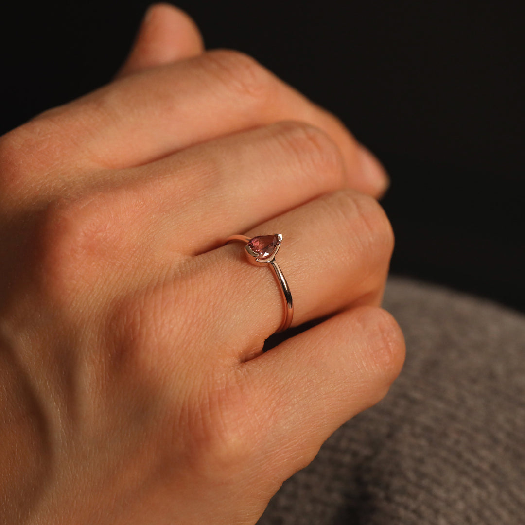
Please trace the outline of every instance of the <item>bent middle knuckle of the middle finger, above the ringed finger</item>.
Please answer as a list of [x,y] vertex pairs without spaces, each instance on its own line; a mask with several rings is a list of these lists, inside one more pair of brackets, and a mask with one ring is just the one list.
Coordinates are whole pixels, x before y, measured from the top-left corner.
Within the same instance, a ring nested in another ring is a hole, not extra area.
[[304,122],[276,124],[278,138],[288,154],[301,164],[302,172],[319,178],[331,177],[334,189],[343,183],[343,157],[338,146],[319,128]]

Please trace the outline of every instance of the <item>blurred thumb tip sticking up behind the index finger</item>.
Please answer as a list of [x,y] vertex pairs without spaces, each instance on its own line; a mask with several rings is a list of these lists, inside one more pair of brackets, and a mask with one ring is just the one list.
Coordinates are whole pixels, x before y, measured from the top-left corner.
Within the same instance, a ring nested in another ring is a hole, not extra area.
[[169,4],[154,4],[146,10],[117,78],[200,55],[203,51],[201,33],[189,15]]

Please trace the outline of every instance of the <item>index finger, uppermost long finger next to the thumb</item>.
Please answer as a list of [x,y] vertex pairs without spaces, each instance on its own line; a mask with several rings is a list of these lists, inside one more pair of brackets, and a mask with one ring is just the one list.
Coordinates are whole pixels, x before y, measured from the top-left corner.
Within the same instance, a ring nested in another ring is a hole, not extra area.
[[[53,136],[57,156],[71,162],[78,176],[81,166],[140,165],[281,120],[307,122],[328,133],[341,150],[349,185],[374,196],[382,193],[384,170],[339,119],[237,51],[209,51],[118,79],[43,113],[25,125],[22,135],[36,126],[37,141],[42,137],[48,143]],[[34,148],[41,151],[38,143]],[[63,182],[63,172],[60,176]]]

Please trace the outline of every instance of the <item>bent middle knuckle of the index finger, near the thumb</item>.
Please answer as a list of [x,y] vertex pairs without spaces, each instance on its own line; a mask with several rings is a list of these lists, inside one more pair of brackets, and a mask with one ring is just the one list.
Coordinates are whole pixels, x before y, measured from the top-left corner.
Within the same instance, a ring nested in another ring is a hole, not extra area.
[[257,60],[229,49],[206,53],[203,66],[208,74],[218,79],[235,97],[248,99],[256,105],[271,95],[271,75]]

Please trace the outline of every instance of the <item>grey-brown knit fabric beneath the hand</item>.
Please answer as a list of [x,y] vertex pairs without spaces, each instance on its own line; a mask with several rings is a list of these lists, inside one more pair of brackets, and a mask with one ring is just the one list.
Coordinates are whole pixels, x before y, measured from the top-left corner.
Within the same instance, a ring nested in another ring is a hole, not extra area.
[[525,316],[400,278],[384,306],[405,333],[401,376],[258,525],[525,524]]

